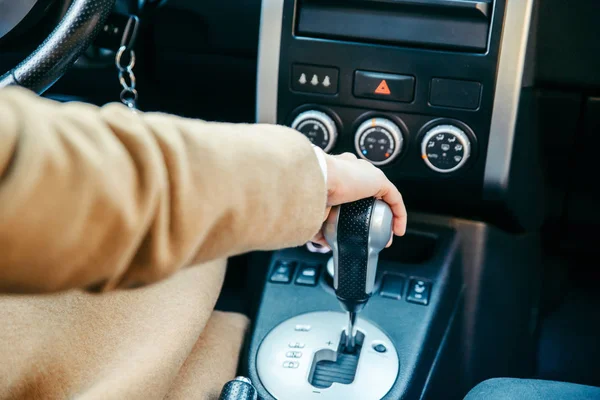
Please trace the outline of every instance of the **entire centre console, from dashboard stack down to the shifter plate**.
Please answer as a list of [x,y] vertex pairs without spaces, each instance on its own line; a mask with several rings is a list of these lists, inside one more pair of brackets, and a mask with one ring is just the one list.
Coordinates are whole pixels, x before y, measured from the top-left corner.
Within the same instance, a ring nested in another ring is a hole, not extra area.
[[461,398],[528,373],[538,238],[507,231],[539,220],[533,3],[263,0],[257,121],[373,163],[411,212],[356,355],[340,351],[331,252],[273,255],[247,349],[261,398]]

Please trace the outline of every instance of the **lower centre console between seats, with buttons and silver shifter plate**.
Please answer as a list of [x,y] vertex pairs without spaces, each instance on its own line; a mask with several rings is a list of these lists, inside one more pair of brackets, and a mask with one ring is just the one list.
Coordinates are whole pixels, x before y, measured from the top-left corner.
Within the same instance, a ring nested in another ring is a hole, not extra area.
[[537,248],[535,235],[413,214],[406,236],[380,253],[374,295],[357,322],[365,334],[357,360],[338,351],[346,316],[331,252],[278,251],[244,373],[268,400],[462,399],[489,377],[527,376]]

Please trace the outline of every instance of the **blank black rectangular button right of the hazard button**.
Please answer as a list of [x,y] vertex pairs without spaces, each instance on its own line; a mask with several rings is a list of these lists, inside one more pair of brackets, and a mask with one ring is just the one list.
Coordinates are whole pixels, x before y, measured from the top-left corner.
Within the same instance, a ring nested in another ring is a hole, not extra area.
[[429,104],[438,107],[477,110],[481,98],[481,83],[456,79],[433,78]]

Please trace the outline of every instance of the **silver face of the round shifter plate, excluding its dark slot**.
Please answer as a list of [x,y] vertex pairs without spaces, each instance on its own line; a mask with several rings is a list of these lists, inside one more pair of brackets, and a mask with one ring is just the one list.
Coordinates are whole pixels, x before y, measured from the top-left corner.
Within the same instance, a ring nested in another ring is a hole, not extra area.
[[[315,354],[323,349],[336,351],[347,315],[322,311],[290,318],[269,332],[262,341],[256,358],[258,377],[265,389],[278,400],[379,400],[393,387],[400,361],[391,339],[373,323],[359,318],[357,329],[365,335],[356,376],[349,384],[334,383],[329,388],[316,388],[309,383]],[[291,348],[302,343],[302,348]],[[381,353],[374,346],[383,345]],[[302,352],[300,358],[287,358],[291,350]],[[286,361],[297,361],[296,368],[284,368]],[[318,393],[315,393],[318,392]]]

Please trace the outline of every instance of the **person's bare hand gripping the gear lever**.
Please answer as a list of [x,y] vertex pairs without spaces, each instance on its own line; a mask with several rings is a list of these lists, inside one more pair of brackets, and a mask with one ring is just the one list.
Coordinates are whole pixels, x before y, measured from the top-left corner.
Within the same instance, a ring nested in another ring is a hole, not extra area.
[[[402,195],[385,174],[366,160],[358,159],[352,153],[340,155],[325,154],[327,162],[327,219],[331,207],[344,203],[375,197],[385,201],[394,214],[392,231],[396,236],[406,232],[406,207]],[[392,235],[393,237],[393,235]],[[314,243],[328,246],[323,232],[312,239]],[[386,247],[392,244],[392,239]]]

